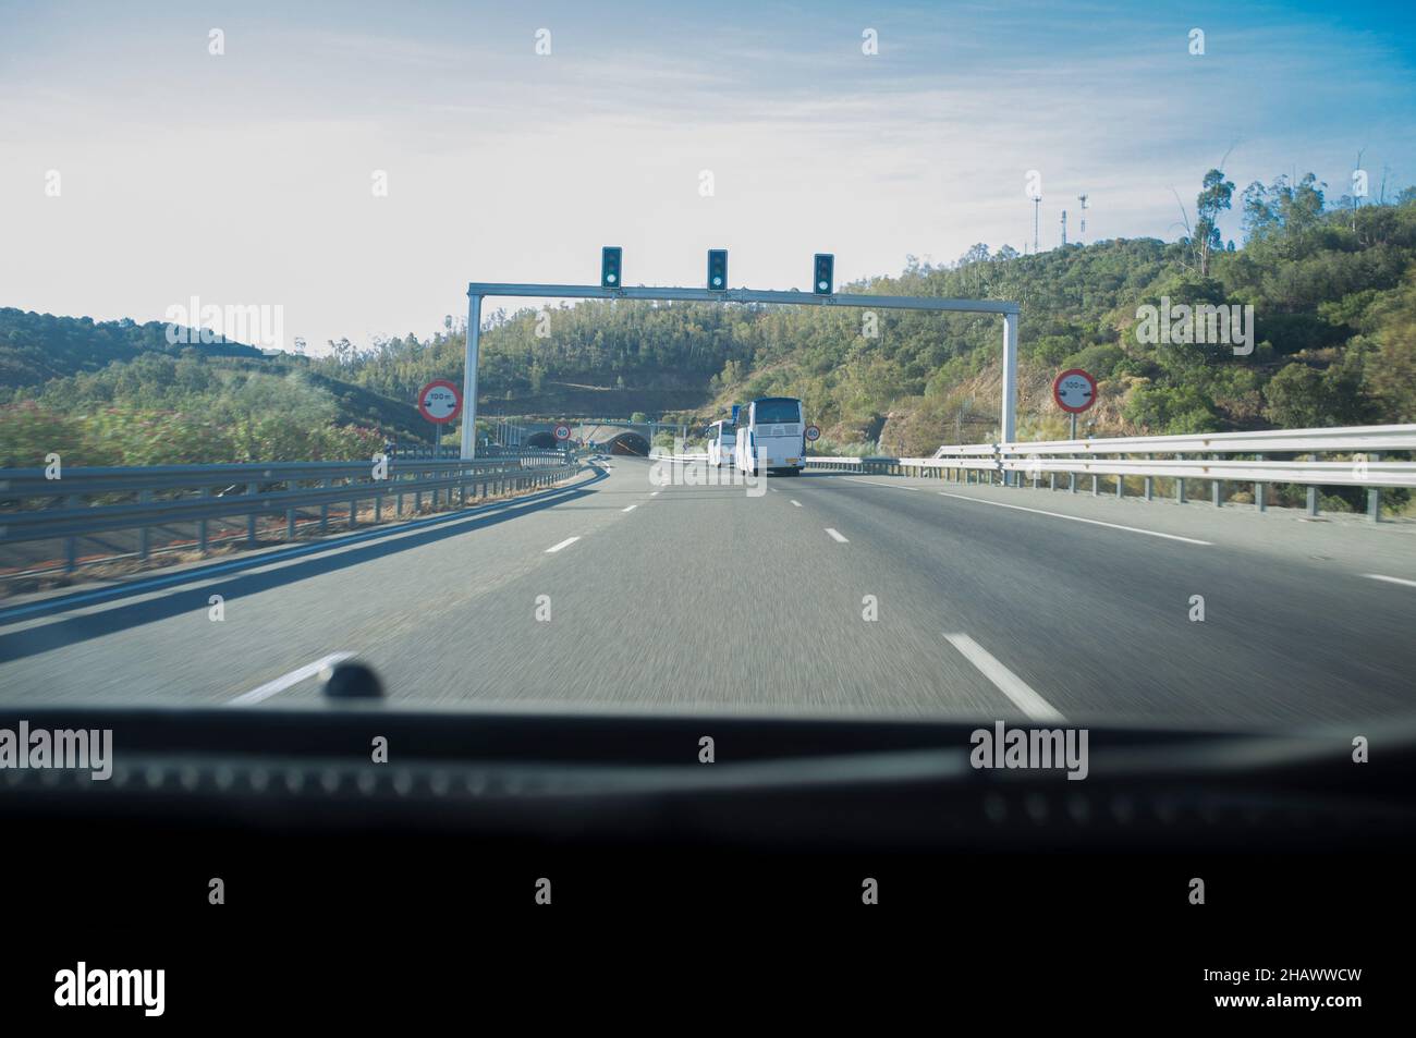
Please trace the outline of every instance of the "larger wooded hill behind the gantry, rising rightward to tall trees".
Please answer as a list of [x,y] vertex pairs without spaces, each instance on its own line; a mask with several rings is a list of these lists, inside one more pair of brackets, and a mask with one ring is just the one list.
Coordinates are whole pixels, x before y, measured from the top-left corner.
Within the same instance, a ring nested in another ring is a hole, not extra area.
[[[1233,184],[1218,171],[1197,200],[1194,234],[1069,245],[1031,256],[910,261],[899,276],[841,290],[1011,299],[1020,329],[1020,435],[1055,436],[1051,378],[1102,380],[1097,433],[1175,433],[1416,421],[1416,191],[1396,204],[1328,207],[1311,176],[1253,184],[1236,200],[1243,242],[1215,222]],[[1255,348],[1138,341],[1137,307],[1253,306]],[[688,408],[701,416],[762,394],[803,397],[837,443],[916,452],[987,438],[998,411],[1000,320],[742,304],[582,302],[545,314],[496,314],[480,387],[497,408],[619,414]],[[459,377],[460,330],[392,340],[317,365],[385,395]],[[657,406],[656,406],[657,402]],[[695,405],[697,402],[697,405]]]

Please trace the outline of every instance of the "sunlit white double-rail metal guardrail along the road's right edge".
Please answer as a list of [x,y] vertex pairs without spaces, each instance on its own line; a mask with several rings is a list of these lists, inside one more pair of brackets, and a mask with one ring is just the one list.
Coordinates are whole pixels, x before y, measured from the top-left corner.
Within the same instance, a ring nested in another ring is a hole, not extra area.
[[[809,457],[807,467],[837,472],[943,476],[969,480],[990,473],[1005,486],[1018,480],[1012,473],[1031,477],[1034,487],[1046,474],[1049,489],[1056,489],[1056,474],[1069,476],[1075,493],[1076,477],[1112,476],[1116,494],[1126,494],[1126,479],[1144,481],[1144,496],[1154,496],[1155,479],[1172,479],[1175,497],[1185,501],[1187,480],[1212,484],[1212,500],[1223,504],[1223,483],[1253,483],[1255,504],[1266,507],[1270,483],[1307,487],[1307,511],[1318,514],[1318,487],[1365,487],[1366,511],[1375,521],[1381,514],[1382,487],[1416,487],[1416,462],[1383,460],[1382,452],[1416,452],[1416,425],[1365,425],[1337,429],[1279,429],[1262,432],[1221,432],[1184,436],[1116,436],[1089,440],[1045,440],[1037,443],[946,445],[933,457]],[[1144,457],[1121,457],[1144,455]],[[1184,457],[1205,455],[1205,457]],[[1218,455],[1252,455],[1247,459],[1219,459]],[[1274,459],[1269,455],[1297,455]],[[1318,460],[1318,455],[1348,455],[1344,460]],[[1161,456],[1161,457],[1157,457]]]

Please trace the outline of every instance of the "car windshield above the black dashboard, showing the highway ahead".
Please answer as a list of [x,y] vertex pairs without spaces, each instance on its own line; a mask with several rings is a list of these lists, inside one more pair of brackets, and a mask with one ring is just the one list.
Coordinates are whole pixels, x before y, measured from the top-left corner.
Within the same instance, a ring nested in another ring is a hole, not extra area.
[[253,1],[4,17],[0,701],[1416,712],[1399,25]]

